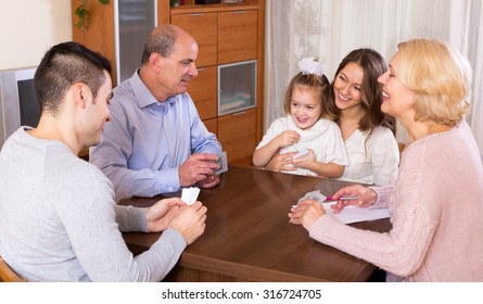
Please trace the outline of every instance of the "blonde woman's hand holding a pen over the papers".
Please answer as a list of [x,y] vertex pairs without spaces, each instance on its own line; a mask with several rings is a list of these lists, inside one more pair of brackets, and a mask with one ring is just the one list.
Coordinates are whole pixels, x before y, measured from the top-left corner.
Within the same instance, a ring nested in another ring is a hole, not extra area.
[[332,195],[332,199],[336,200],[341,197],[357,197],[356,200],[338,201],[331,205],[333,213],[340,213],[346,205],[355,205],[358,207],[370,207],[378,200],[378,194],[374,190],[366,188],[361,185],[353,185],[340,189]]

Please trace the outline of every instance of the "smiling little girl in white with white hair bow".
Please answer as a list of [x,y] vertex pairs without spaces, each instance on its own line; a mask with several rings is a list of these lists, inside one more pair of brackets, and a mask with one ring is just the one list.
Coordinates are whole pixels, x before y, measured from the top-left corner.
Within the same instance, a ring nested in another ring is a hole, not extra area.
[[[285,92],[285,117],[276,119],[255,149],[253,164],[267,165],[280,152],[287,153],[293,167],[283,173],[319,177],[341,177],[347,165],[347,154],[341,130],[328,97],[331,86],[321,65],[313,58],[298,62],[301,73]],[[297,152],[307,151],[302,157]]]

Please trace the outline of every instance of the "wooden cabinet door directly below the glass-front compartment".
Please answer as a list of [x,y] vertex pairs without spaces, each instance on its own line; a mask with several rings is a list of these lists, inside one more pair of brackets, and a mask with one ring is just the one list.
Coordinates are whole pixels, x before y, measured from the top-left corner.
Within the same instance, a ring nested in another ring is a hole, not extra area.
[[218,140],[228,163],[250,156],[255,150],[256,109],[218,117]]

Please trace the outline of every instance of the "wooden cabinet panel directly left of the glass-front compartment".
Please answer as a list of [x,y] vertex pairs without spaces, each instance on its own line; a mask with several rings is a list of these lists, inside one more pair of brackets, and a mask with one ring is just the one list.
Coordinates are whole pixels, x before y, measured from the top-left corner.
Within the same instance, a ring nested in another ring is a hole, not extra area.
[[198,77],[193,78],[188,86],[188,93],[193,99],[203,121],[218,115],[216,74],[216,66],[199,68]]

